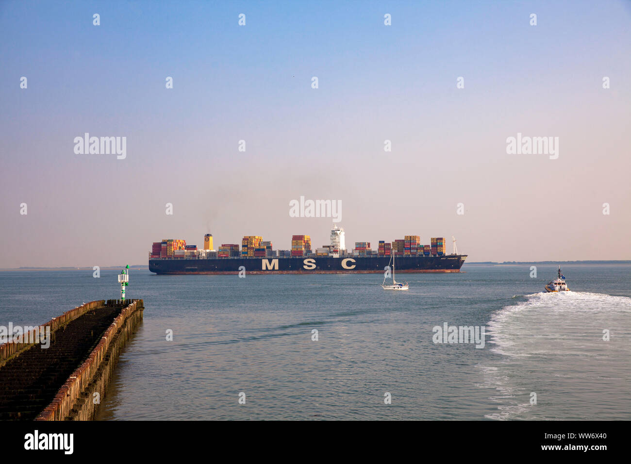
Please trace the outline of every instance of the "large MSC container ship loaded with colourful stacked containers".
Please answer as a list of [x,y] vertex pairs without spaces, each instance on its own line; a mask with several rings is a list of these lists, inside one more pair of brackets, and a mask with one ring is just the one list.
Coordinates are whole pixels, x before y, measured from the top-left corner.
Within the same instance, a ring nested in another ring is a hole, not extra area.
[[[453,238],[453,237],[452,237]],[[344,229],[331,229],[331,244],[312,251],[309,235],[293,235],[291,249],[274,249],[259,235],[245,235],[241,244],[221,244],[213,249],[213,235],[204,235],[204,247],[187,245],[179,239],[153,242],[149,270],[156,274],[327,274],[381,273],[396,256],[397,272],[459,272],[466,254],[458,254],[456,239],[452,254],[445,253],[445,238],[433,237],[421,244],[418,235],[401,240],[379,241],[377,249],[370,242],[355,242],[347,250]]]

